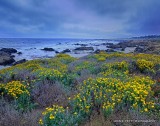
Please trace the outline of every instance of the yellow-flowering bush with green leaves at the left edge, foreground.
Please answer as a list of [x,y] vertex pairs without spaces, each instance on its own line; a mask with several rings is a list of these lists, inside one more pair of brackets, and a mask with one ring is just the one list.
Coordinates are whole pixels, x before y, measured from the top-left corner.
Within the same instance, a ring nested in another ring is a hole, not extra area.
[[14,99],[14,107],[21,111],[31,110],[35,105],[31,103],[30,92],[26,85],[20,81],[11,81],[0,85],[2,97],[9,96]]

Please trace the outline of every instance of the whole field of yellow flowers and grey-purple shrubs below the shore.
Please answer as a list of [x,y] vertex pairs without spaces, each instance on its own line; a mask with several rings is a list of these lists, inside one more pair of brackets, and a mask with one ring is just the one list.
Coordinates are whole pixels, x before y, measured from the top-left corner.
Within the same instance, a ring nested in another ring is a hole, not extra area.
[[32,60],[0,71],[0,95],[3,126],[158,125],[160,55]]

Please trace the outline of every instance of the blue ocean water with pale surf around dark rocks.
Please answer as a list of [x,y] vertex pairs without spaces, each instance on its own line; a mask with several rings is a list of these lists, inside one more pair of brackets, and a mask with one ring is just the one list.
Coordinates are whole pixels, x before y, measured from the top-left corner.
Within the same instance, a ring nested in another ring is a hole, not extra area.
[[75,52],[74,49],[81,47],[80,44],[86,44],[88,47],[96,49],[106,50],[106,46],[102,43],[118,43],[115,40],[107,39],[46,39],[46,38],[0,38],[0,49],[1,48],[14,48],[18,52],[22,52],[21,55],[15,55],[15,60],[32,60],[38,58],[50,58],[56,55],[55,52],[43,51],[41,49],[48,47],[53,48],[58,52],[64,49],[70,49],[68,53],[74,57],[82,57],[91,53],[91,51],[79,51]]

